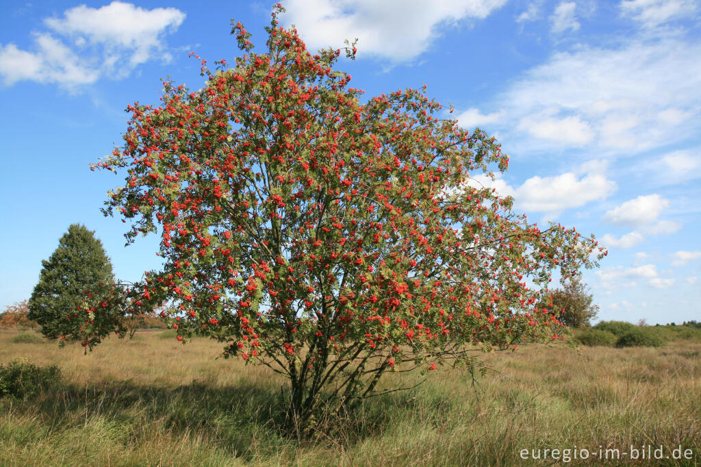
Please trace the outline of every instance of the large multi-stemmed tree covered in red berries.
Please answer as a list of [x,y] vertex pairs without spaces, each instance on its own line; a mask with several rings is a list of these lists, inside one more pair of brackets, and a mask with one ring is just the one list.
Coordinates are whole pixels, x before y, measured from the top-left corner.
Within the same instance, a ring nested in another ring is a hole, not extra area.
[[[285,375],[304,433],[388,372],[562,337],[540,289],[594,266],[593,236],[538,229],[473,187],[507,168],[493,137],[444,119],[425,87],[364,98],[333,68],[341,50],[310,53],[281,11],[264,53],[236,23],[233,67],[202,60],[201,90],[165,81],[160,106],[129,106],[123,148],[96,164],[126,171],[105,212],[130,222],[128,241],[161,236],[163,269],[125,308],[172,304],[178,339]],[[88,344],[98,334],[86,325]]]

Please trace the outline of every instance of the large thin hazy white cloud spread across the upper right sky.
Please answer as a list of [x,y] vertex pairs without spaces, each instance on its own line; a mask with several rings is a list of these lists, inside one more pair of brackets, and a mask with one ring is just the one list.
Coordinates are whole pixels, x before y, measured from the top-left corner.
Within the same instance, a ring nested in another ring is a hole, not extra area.
[[487,104],[501,114],[495,130],[521,151],[552,142],[631,156],[701,130],[700,56],[701,42],[673,35],[621,39],[613,48],[578,45],[529,69]]

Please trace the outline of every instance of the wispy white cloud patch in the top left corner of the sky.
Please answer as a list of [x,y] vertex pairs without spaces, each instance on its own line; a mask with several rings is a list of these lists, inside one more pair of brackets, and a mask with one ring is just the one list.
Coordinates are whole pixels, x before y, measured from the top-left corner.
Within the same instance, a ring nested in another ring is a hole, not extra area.
[[77,88],[100,76],[124,77],[157,55],[163,35],[175,32],[185,14],[176,8],[146,10],[121,1],[102,8],[81,5],[62,18],[47,18],[48,31],[34,33],[34,50],[0,44],[0,76]]

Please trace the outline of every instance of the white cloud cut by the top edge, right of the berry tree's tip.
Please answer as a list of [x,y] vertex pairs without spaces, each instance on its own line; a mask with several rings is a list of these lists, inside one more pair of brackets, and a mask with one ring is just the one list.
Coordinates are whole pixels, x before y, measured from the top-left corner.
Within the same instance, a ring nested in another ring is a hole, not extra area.
[[283,20],[294,24],[308,48],[343,46],[358,38],[358,56],[392,62],[411,60],[428,49],[438,26],[482,19],[505,0],[289,0]]

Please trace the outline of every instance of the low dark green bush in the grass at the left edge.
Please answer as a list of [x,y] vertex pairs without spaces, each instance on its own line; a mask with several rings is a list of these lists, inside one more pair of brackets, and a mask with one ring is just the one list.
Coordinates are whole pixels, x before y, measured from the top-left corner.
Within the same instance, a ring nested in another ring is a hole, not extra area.
[[0,365],[0,397],[30,398],[46,391],[60,381],[61,370],[56,365],[41,367],[29,360],[14,360]]

